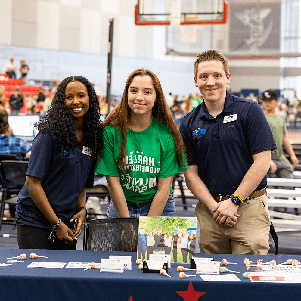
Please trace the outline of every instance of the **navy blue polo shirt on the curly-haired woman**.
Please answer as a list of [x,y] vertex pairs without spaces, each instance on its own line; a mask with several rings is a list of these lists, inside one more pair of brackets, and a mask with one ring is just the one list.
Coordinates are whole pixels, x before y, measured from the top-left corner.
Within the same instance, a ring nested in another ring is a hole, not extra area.
[[[93,187],[94,160],[89,155],[85,139],[75,151],[57,152],[51,132],[39,132],[33,140],[26,175],[42,179],[41,186],[47,199],[63,222],[69,222],[76,213],[77,197],[85,187]],[[51,224],[31,199],[24,185],[16,206],[19,226],[51,228]]]

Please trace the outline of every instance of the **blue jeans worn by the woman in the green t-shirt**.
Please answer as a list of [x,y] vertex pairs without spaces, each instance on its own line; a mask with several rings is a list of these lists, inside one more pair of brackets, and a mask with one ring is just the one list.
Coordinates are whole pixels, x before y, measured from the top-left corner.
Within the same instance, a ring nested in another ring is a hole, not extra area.
[[[145,203],[126,203],[128,205],[129,214],[131,217],[139,217],[140,215],[147,216],[148,211],[151,208],[151,201]],[[175,198],[173,196],[173,192],[169,194],[168,200],[166,202],[161,216],[175,216]],[[118,217],[112,200],[108,208],[107,217]]]

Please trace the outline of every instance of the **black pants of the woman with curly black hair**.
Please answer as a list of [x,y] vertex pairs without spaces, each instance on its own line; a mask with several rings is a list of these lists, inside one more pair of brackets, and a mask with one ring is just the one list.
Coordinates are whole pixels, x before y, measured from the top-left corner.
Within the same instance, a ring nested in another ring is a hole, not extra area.
[[[68,223],[67,226],[73,229],[74,222]],[[76,250],[77,240],[75,239],[69,244],[65,244],[56,236],[54,242],[52,239],[49,240],[52,229],[16,225],[16,230],[19,249]]]

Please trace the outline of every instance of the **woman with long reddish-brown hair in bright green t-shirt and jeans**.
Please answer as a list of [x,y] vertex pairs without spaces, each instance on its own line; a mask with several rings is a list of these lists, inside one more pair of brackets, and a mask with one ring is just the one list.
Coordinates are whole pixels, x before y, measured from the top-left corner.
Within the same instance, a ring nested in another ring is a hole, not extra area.
[[187,166],[157,76],[144,69],[132,72],[103,126],[104,148],[95,172],[107,178],[108,217],[174,216],[172,179]]

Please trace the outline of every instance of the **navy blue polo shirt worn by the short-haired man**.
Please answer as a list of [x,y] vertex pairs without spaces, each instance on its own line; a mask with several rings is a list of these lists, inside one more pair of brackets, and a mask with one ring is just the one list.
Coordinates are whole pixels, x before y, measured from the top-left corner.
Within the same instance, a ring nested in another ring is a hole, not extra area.
[[[274,150],[276,144],[258,103],[227,92],[223,111],[214,118],[203,102],[180,124],[188,165],[212,194],[232,195],[253,164],[252,155]],[[262,179],[257,191],[266,186]]]

